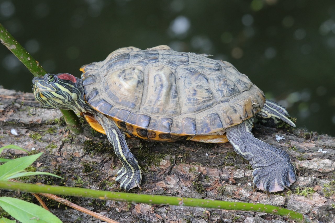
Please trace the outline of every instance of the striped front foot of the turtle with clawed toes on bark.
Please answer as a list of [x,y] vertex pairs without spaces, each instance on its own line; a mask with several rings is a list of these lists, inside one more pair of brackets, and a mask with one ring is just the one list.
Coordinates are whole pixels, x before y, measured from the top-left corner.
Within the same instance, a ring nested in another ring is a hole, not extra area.
[[140,183],[142,180],[141,169],[136,169],[134,172],[129,172],[126,170],[125,167],[122,167],[118,173],[117,177],[113,177],[113,179],[120,183],[120,188],[124,189],[125,191],[129,191],[135,187],[138,187],[142,190]]

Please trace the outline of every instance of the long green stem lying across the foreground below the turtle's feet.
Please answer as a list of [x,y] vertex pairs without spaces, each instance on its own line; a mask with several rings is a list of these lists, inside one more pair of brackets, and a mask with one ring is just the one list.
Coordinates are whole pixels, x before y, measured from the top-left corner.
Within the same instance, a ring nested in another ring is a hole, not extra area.
[[159,195],[141,195],[122,192],[96,191],[83,188],[68,188],[61,186],[50,186],[44,184],[29,184],[0,181],[0,188],[17,190],[30,193],[49,193],[55,195],[68,195],[85,198],[95,198],[102,200],[115,200],[125,202],[136,202],[145,204],[159,204],[159,205],[177,205],[188,207],[202,207],[202,208],[216,208],[225,210],[242,210],[253,212],[264,212],[274,215],[280,215],[297,222],[309,222],[309,218],[303,214],[280,208],[272,205],[256,204],[256,203],[242,203],[242,202],[226,202],[226,201],[212,201],[198,198],[183,198],[170,197]]

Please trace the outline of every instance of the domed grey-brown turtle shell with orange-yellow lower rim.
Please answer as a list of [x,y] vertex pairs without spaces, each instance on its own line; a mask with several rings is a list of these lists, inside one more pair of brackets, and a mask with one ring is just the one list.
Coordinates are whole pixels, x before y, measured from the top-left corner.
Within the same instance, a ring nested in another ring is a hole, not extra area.
[[223,135],[265,102],[263,92],[230,63],[164,45],[121,48],[80,70],[85,101],[143,139]]

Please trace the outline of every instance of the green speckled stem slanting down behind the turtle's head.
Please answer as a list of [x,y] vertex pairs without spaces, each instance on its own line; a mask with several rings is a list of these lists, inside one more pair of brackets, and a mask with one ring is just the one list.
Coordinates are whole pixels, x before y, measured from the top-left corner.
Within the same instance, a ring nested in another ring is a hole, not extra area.
[[[47,72],[35,60],[22,46],[19,44],[14,37],[5,29],[5,27],[0,23],[0,41],[3,45],[7,47],[18,59],[21,61],[26,68],[35,76],[43,76]],[[70,127],[70,130],[75,134],[79,134],[81,129],[79,126],[79,121],[76,114],[72,110],[61,109],[63,116],[65,118],[66,124]]]

